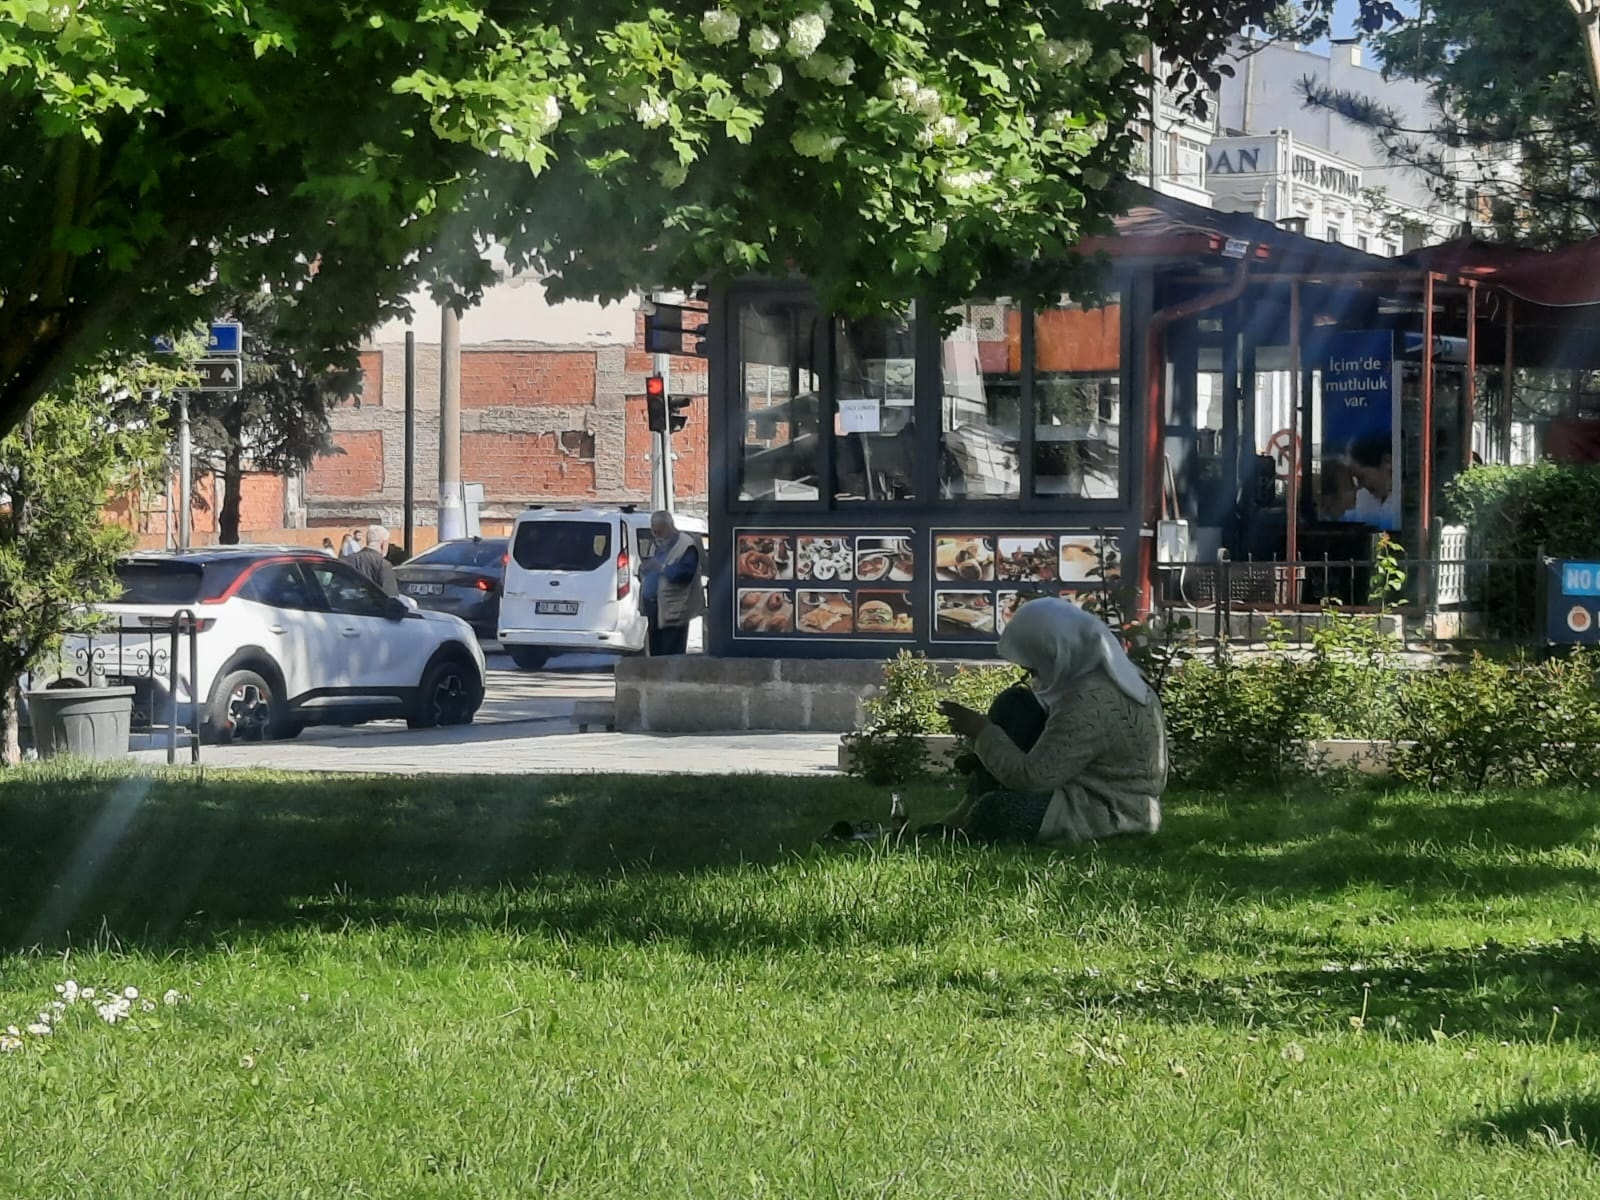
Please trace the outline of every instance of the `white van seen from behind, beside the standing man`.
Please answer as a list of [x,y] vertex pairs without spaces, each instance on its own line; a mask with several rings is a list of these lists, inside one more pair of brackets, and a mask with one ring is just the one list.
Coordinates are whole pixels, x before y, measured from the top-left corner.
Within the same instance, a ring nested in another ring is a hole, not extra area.
[[[701,542],[706,522],[675,517]],[[654,549],[650,514],[632,507],[534,507],[517,517],[506,557],[499,643],[523,670],[552,654],[645,650],[638,568]],[[693,637],[693,630],[691,630]]]

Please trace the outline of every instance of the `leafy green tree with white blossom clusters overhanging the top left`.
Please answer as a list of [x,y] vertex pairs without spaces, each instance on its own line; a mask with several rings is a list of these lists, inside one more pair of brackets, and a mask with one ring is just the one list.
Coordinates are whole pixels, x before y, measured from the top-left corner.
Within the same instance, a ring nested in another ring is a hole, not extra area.
[[0,0],[0,432],[210,286],[296,294],[333,354],[419,280],[470,301],[485,237],[557,296],[955,296],[1102,226],[1150,38],[1194,82],[1275,10]]

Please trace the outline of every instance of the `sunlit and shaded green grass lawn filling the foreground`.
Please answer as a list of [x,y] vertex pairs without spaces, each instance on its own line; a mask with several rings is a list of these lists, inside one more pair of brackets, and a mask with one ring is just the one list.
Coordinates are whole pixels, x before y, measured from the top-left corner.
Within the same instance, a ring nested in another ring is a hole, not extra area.
[[886,811],[834,778],[0,776],[0,1029],[141,992],[0,1054],[0,1197],[1600,1194],[1594,797],[813,845]]

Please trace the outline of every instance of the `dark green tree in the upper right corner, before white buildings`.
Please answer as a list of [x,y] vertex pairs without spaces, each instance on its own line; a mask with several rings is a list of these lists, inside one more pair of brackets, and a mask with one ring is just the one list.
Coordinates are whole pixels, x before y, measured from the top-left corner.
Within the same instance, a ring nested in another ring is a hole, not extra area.
[[1427,85],[1432,114],[1306,85],[1370,128],[1440,198],[1488,202],[1502,238],[1558,245],[1600,232],[1600,3],[1430,0],[1376,38],[1384,72]]

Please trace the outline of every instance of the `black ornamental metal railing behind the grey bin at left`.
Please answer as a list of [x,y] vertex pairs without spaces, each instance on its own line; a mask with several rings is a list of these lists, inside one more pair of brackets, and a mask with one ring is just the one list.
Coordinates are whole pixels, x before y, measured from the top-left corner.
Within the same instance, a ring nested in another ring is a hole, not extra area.
[[131,731],[152,746],[165,741],[168,763],[178,762],[179,744],[187,742],[189,760],[198,763],[205,720],[195,694],[198,632],[194,611],[181,608],[170,618],[141,616],[69,634],[54,659],[34,672],[34,686],[131,686]]

